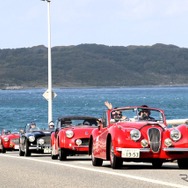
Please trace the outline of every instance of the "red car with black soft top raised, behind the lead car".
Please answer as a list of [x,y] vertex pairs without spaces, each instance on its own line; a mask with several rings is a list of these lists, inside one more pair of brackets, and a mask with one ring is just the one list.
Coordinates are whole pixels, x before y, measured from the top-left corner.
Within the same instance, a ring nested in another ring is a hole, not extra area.
[[97,128],[97,118],[66,116],[58,119],[57,128],[51,134],[52,159],[66,160],[67,156],[88,154],[89,137]]

